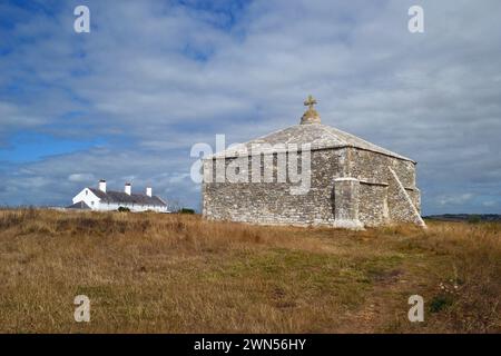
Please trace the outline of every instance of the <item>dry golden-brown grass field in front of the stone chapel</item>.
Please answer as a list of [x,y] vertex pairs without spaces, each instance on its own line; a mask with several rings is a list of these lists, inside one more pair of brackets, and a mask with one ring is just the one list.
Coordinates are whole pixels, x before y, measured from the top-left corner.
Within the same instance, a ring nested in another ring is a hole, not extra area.
[[[73,298],[91,300],[90,323]],[[409,296],[425,322],[407,320]],[[2,333],[500,333],[501,224],[0,210]]]

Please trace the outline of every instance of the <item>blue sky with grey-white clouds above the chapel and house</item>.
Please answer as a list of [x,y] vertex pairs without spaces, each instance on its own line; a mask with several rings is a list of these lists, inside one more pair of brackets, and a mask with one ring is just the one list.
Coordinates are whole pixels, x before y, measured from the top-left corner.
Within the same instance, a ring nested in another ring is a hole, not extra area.
[[[90,9],[90,33],[73,30]],[[424,33],[407,10],[424,9]],[[0,205],[153,185],[196,142],[323,123],[415,159],[423,214],[501,212],[501,1],[1,1]]]

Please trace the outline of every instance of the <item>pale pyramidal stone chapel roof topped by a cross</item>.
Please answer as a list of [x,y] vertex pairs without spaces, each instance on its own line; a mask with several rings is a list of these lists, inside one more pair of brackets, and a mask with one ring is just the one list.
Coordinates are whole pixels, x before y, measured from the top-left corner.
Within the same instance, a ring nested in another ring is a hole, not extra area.
[[316,100],[311,96],[304,103],[310,106],[310,109],[306,110],[301,118],[299,125],[294,125],[248,142],[237,145],[207,158],[245,157],[252,156],[253,151],[264,154],[281,152],[281,149],[269,149],[269,146],[275,145],[285,145],[285,150],[287,150],[288,145],[296,145],[297,150],[301,150],[303,145],[310,144],[311,150],[354,147],[415,162],[407,157],[392,152],[391,150],[365,141],[354,135],[321,123],[320,115],[313,109],[313,105],[316,103]]

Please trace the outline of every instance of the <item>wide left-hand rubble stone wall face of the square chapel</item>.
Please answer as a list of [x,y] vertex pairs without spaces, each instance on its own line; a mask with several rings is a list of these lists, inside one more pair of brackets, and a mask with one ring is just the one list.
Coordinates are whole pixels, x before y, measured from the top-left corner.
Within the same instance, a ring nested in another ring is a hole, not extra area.
[[[282,184],[204,182],[203,214],[209,219],[257,224],[332,225],[334,178],[341,176],[344,156],[345,149],[312,151],[311,188],[305,195],[292,195],[291,187],[298,185],[292,184],[289,179]],[[226,159],[226,167],[230,161]],[[209,161],[205,160],[204,171],[209,166]],[[252,175],[249,159],[248,177]]]

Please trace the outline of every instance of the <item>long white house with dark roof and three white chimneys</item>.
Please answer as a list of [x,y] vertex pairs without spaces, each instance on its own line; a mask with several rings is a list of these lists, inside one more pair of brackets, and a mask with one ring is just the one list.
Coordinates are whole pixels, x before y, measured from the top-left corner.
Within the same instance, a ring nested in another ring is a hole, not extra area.
[[154,196],[150,187],[146,188],[145,194],[132,194],[132,186],[128,182],[124,191],[112,191],[106,189],[104,179],[99,180],[98,189],[84,188],[73,197],[73,205],[67,208],[112,211],[118,210],[119,207],[128,208],[130,211],[169,212],[167,202]]

